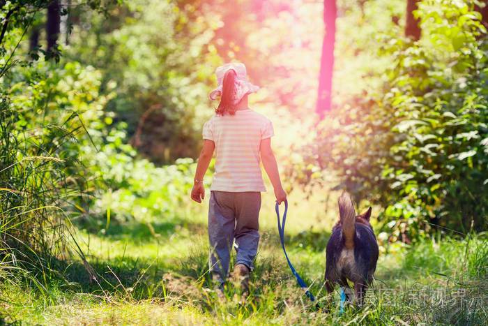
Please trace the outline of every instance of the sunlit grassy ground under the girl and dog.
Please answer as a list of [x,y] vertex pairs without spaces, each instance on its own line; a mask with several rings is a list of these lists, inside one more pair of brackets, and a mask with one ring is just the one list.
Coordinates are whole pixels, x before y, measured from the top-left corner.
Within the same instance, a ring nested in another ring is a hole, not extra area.
[[[261,244],[246,304],[231,283],[224,302],[212,290],[203,207],[167,221],[128,221],[98,233],[80,230],[77,242],[97,280],[77,260],[59,267],[63,280],[53,278],[44,292],[10,280],[0,289],[0,316],[4,323],[27,325],[487,324],[485,235],[382,244],[367,304],[346,307],[340,316],[337,294],[333,306],[317,309],[296,286],[279,246],[271,195],[264,195]],[[289,255],[324,305],[323,250],[334,210],[321,214],[319,196],[311,203],[300,194],[293,198]],[[308,212],[307,218],[298,212]]]

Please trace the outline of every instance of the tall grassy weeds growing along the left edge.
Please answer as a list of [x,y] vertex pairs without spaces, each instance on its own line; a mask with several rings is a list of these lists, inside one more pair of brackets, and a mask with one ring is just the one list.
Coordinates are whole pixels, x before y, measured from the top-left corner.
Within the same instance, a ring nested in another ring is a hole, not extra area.
[[73,171],[68,177],[75,160],[65,153],[79,123],[68,113],[61,124],[26,128],[31,114],[0,101],[0,272],[47,293],[51,278],[62,279],[62,260],[75,252],[84,260],[69,220],[82,184]]

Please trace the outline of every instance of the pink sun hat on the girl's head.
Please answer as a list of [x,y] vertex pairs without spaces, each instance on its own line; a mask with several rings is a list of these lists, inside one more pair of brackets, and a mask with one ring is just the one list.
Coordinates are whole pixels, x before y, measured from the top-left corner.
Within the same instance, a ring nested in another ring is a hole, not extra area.
[[224,81],[224,75],[231,69],[236,72],[236,94],[234,103],[239,103],[245,94],[258,91],[259,86],[256,86],[247,80],[247,71],[244,64],[241,62],[224,64],[215,70],[215,75],[217,76],[217,88],[208,94],[208,97],[212,101],[215,101],[218,96],[222,95],[222,82]]

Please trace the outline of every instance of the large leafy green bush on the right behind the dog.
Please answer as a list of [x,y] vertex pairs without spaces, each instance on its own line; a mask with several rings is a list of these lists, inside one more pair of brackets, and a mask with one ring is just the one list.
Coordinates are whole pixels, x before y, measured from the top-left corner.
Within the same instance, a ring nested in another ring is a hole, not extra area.
[[438,225],[486,230],[485,27],[469,2],[424,1],[416,14],[422,40],[379,38],[381,55],[392,58],[383,86],[323,121],[301,178],[337,171],[341,188],[385,208],[392,239]]

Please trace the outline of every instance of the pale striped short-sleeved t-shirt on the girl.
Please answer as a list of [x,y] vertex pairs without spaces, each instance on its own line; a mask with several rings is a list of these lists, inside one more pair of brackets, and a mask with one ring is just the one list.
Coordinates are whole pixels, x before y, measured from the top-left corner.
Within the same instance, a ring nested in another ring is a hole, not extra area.
[[273,124],[253,110],[215,115],[204,124],[204,139],[215,142],[215,174],[210,190],[266,191],[259,167],[261,140],[274,135]]

